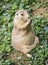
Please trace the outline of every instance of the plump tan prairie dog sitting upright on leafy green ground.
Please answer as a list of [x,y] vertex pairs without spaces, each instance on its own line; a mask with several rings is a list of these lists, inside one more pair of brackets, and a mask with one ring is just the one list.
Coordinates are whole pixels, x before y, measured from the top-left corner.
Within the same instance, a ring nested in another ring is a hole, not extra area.
[[31,21],[27,11],[19,10],[16,12],[13,23],[11,45],[15,50],[20,51],[31,58],[32,56],[29,52],[35,48],[39,40],[32,31]]

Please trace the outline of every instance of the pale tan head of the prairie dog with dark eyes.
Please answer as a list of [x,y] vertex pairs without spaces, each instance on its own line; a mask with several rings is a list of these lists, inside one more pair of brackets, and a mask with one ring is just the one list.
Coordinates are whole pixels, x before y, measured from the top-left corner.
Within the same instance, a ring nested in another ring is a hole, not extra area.
[[28,20],[28,18],[29,18],[29,15],[28,15],[26,10],[18,10],[16,12],[16,14],[15,14],[15,18],[14,19],[26,21],[26,20]]

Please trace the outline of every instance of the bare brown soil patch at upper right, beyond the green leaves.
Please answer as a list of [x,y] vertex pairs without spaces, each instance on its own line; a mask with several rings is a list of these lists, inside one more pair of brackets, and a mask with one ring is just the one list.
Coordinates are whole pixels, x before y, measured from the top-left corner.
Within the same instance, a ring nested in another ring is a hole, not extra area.
[[38,8],[36,9],[34,12],[33,12],[33,15],[34,16],[43,16],[45,18],[48,18],[48,6],[46,7],[41,7],[41,8]]

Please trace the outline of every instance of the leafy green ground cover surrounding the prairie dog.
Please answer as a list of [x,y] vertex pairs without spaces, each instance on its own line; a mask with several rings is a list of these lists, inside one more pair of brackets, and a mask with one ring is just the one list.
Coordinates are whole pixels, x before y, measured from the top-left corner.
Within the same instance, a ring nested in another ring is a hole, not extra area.
[[[14,51],[11,47],[11,32],[14,14],[19,9],[26,9],[29,14],[37,8],[48,5],[48,0],[3,0],[0,1],[0,65],[44,65],[48,61],[48,19],[32,15],[32,27],[39,38],[39,44],[30,54],[33,60]],[[47,9],[48,11],[48,9]],[[17,54],[15,61],[9,57],[10,53]],[[14,64],[15,63],[15,64]]]

